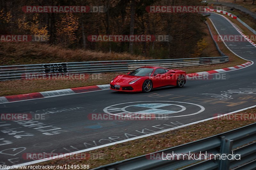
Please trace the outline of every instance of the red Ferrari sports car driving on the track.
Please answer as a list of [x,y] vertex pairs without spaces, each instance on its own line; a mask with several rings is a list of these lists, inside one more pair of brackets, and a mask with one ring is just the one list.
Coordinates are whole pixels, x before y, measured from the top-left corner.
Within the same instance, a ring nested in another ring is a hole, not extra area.
[[116,76],[110,82],[110,89],[122,92],[150,92],[153,88],[169,85],[183,87],[185,83],[186,71],[144,66],[127,75]]

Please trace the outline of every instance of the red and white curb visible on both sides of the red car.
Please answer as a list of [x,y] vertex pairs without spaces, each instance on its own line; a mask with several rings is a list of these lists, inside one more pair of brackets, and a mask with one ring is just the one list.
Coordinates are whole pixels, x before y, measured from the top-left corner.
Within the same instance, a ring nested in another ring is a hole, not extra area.
[[[241,68],[247,67],[251,64],[252,64],[252,62],[246,62],[241,65],[237,65],[234,67],[228,67],[228,68],[224,68],[224,69],[203,71],[203,72],[198,72],[198,73],[190,73],[190,74],[187,74],[187,78],[241,69]],[[20,100],[31,100],[31,99],[47,98],[47,97],[61,96],[61,95],[68,95],[68,94],[75,94],[75,93],[107,90],[107,89],[109,89],[109,86],[110,86],[109,84],[108,85],[94,85],[94,86],[87,86],[87,87],[76,87],[76,88],[63,89],[63,90],[54,90],[54,91],[48,91],[48,92],[35,92],[35,93],[28,93],[28,94],[5,96],[5,97],[0,97],[0,103],[8,103],[8,102],[20,101]]]

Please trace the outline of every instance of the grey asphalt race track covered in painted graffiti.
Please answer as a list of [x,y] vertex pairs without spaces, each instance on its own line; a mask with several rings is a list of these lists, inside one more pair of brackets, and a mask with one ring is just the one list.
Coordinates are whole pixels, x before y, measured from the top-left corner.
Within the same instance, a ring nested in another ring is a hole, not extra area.
[[[220,15],[212,14],[210,18],[220,34],[240,35]],[[249,42],[227,42],[227,45],[237,55],[256,62],[256,48]],[[150,93],[102,90],[0,104],[0,113],[46,116],[46,120],[38,121],[1,121],[1,164],[33,161],[23,159],[24,153],[75,152],[253,106],[256,104],[255,70],[253,64],[211,75],[211,80],[188,80],[183,88],[168,87]],[[148,121],[96,121],[87,117],[105,112],[165,113],[166,117]]]

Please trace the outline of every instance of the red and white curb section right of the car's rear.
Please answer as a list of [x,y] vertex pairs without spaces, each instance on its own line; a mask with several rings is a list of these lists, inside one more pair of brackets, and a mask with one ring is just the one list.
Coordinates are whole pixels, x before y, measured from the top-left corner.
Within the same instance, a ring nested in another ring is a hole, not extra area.
[[221,73],[221,72],[225,72],[225,71],[241,69],[241,68],[247,67],[251,64],[252,64],[252,62],[249,61],[249,62],[246,62],[246,63],[241,64],[241,65],[237,65],[237,66],[234,66],[234,67],[228,67],[228,68],[224,68],[224,69],[216,69],[216,70],[210,70],[210,71],[202,71],[202,72],[197,72],[197,73],[190,73],[190,74],[187,74],[187,78],[192,78],[192,77],[197,77],[197,76],[204,76],[204,75],[209,75],[209,74],[216,74],[216,73]]

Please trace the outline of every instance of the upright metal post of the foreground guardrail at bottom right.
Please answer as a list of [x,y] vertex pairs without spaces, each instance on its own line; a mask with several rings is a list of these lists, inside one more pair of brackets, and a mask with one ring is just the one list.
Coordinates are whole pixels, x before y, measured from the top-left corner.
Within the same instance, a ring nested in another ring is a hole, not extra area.
[[[220,154],[231,154],[232,151],[233,140],[227,139],[226,137],[221,137],[220,144]],[[220,170],[228,170],[229,169],[230,160],[226,158],[226,160],[221,160],[219,162]]]

